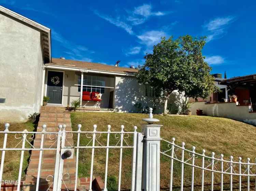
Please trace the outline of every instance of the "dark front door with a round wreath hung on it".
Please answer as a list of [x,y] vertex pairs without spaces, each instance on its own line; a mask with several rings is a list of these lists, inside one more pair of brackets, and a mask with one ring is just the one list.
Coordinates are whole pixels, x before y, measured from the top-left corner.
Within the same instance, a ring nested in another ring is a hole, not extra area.
[[61,104],[63,72],[48,71],[47,97],[48,103]]

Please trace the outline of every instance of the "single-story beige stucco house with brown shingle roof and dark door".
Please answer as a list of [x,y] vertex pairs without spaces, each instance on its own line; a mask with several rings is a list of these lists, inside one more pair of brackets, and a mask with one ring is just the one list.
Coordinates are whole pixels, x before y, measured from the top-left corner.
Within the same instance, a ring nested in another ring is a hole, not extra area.
[[44,96],[49,105],[67,107],[80,99],[83,106],[81,87],[102,94],[101,110],[137,112],[137,102],[153,105],[155,92],[137,83],[136,69],[52,58],[51,29],[2,6],[0,36],[0,121],[26,120],[39,112]]

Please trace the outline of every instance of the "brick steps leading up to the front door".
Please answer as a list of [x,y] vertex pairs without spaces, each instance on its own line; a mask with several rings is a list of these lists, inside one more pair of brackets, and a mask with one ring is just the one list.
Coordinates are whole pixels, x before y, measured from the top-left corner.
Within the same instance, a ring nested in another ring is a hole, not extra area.
[[[54,107],[54,106],[42,106],[40,110],[40,119],[37,127],[37,132],[42,131],[42,125],[46,124],[47,132],[58,132],[58,125],[66,124],[66,131],[72,131],[71,130],[71,121],[70,121],[70,114],[66,112],[65,107]],[[54,144],[56,137],[54,137],[54,140],[50,139],[53,138],[55,135],[45,134],[44,138],[44,147],[49,148],[51,145]],[[67,141],[73,145],[73,139],[72,137],[67,134],[66,137]],[[68,142],[66,141],[66,145]],[[35,148],[39,148],[41,144],[41,135],[37,135],[34,139],[33,146]],[[53,147],[56,148],[56,143]],[[55,157],[56,151],[55,150],[45,150],[43,151],[42,155],[42,164],[41,164],[41,175],[40,175],[40,191],[46,191],[48,187],[51,185],[53,178],[48,177],[48,180],[46,180],[46,177],[49,175],[54,175],[54,169],[55,169]],[[25,185],[29,189],[26,190],[34,190],[33,187],[35,187],[35,183],[37,181],[37,173],[38,173],[38,163],[39,163],[39,151],[32,151],[29,166],[27,169],[27,176],[25,179]],[[68,173],[70,176],[65,176],[63,179],[65,180],[65,184],[68,187],[69,190],[74,190],[74,184],[75,184],[75,156],[73,159],[65,159],[64,160],[64,167],[63,167],[63,174]],[[67,178],[67,179],[66,179]],[[80,181],[78,180],[78,185]],[[62,189],[66,190],[65,185],[62,181]],[[52,186],[49,190],[52,190]]]

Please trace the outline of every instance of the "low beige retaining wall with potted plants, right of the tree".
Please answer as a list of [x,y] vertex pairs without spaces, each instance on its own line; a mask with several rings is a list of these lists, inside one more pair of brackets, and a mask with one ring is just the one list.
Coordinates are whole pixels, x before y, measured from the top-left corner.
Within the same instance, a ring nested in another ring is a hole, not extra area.
[[208,116],[225,117],[256,125],[256,113],[250,113],[249,106],[237,106],[236,103],[196,102],[190,108],[192,115],[196,115],[196,109],[202,109],[203,114]]

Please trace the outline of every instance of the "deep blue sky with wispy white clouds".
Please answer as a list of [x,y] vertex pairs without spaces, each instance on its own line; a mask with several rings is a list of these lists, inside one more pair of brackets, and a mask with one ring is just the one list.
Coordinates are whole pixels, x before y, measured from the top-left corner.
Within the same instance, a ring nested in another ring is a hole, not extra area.
[[161,36],[207,36],[212,73],[256,73],[256,1],[18,1],[0,4],[52,29],[52,57],[141,65]]

